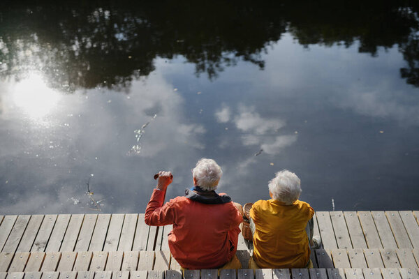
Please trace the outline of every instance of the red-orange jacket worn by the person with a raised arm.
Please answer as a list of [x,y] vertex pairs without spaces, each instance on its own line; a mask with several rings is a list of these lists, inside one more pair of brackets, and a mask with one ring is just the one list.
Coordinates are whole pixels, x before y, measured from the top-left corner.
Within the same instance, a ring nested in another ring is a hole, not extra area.
[[242,216],[233,202],[204,204],[175,197],[163,205],[164,191],[154,189],[145,209],[145,223],[173,224],[169,248],[186,269],[216,269],[226,264],[237,250]]

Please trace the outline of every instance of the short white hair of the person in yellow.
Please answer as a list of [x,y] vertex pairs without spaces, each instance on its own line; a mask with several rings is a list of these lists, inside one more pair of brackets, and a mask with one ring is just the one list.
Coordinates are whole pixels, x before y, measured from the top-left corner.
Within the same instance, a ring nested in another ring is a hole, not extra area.
[[269,181],[268,187],[272,197],[285,204],[293,204],[301,194],[300,179],[286,169],[275,174],[274,179]]

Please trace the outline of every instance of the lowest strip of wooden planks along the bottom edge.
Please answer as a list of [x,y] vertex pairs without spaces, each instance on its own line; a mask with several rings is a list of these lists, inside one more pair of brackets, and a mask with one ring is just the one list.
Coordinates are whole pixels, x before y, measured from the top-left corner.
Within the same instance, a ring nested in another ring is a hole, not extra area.
[[[273,276],[273,277],[272,277]],[[418,279],[417,269],[216,269],[181,271],[0,272],[0,279]]]

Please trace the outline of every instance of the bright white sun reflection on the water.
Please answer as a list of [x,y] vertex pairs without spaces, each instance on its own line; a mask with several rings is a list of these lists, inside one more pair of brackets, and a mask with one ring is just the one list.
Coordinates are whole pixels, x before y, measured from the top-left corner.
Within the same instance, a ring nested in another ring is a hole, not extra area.
[[60,93],[50,89],[41,75],[30,75],[17,82],[13,101],[25,114],[34,119],[50,114],[60,99]]

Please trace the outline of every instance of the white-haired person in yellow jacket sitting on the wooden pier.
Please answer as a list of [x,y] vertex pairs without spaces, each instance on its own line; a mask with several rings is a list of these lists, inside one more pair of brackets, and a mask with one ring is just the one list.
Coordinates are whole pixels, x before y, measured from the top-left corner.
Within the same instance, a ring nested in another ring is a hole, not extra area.
[[253,233],[251,269],[310,268],[311,248],[321,245],[313,236],[314,210],[300,197],[300,179],[284,169],[269,184],[272,199],[258,200],[250,209]]

